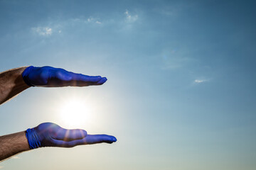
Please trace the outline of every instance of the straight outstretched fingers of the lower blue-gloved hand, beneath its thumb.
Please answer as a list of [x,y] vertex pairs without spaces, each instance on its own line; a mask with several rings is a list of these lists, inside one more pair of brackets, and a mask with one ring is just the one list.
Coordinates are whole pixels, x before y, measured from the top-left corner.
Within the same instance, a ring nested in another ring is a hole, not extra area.
[[87,135],[85,138],[81,140],[73,140],[73,141],[63,141],[63,140],[53,140],[53,145],[57,147],[75,147],[77,145],[90,145],[97,143],[112,143],[116,142],[117,139],[114,136],[110,135]]

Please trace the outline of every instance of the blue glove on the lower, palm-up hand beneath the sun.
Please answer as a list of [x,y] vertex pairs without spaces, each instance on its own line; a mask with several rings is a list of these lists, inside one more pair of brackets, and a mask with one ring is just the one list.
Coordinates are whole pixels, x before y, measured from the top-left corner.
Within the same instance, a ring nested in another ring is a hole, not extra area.
[[87,135],[85,130],[67,130],[54,123],[42,123],[26,130],[26,138],[31,149],[38,147],[75,147],[97,143],[112,143],[117,139],[110,135]]

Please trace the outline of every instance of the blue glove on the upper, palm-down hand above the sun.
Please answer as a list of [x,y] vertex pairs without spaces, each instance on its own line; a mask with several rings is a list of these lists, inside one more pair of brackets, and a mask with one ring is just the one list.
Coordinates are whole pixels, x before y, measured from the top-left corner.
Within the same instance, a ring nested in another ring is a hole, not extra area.
[[91,86],[101,85],[107,81],[106,77],[91,77],[49,66],[27,67],[22,73],[22,77],[28,86],[44,87]]

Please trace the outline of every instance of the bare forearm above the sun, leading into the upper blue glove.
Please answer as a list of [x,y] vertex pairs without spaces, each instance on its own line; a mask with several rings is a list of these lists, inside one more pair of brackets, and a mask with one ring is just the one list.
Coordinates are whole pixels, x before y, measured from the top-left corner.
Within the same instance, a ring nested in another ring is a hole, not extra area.
[[21,76],[26,67],[11,69],[0,73],[0,104],[28,89]]

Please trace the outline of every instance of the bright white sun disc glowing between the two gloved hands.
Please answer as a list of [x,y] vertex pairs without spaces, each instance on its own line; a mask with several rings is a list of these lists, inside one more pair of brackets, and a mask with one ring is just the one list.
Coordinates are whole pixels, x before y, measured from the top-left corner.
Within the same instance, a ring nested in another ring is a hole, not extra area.
[[72,98],[63,101],[60,107],[60,120],[69,128],[78,128],[90,120],[90,106],[82,99]]

